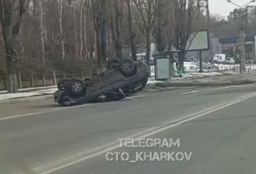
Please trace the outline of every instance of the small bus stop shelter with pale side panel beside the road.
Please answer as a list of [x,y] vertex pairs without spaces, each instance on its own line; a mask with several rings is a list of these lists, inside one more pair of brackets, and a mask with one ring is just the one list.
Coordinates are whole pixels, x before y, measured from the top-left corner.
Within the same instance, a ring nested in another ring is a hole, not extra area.
[[168,80],[174,76],[174,53],[179,50],[168,50],[152,55],[155,65],[155,80]]

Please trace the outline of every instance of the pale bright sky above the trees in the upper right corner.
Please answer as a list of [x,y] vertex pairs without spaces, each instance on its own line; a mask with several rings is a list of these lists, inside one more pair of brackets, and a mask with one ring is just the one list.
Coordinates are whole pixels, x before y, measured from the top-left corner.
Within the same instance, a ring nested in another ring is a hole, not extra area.
[[[250,0],[232,0],[235,4],[243,6]],[[256,2],[250,4],[256,6]],[[209,0],[209,9],[211,14],[220,14],[221,16],[228,16],[230,11],[236,8],[233,4],[227,2],[227,0]]]

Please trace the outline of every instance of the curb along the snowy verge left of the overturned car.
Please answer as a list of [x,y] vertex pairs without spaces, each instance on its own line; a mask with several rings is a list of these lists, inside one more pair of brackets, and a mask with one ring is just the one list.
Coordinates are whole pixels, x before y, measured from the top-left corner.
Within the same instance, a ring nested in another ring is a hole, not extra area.
[[47,94],[42,96],[31,96],[26,98],[13,98],[13,99],[4,99],[0,101],[0,104],[14,104],[14,103],[22,103],[28,101],[36,101],[39,99],[53,99],[53,94]]

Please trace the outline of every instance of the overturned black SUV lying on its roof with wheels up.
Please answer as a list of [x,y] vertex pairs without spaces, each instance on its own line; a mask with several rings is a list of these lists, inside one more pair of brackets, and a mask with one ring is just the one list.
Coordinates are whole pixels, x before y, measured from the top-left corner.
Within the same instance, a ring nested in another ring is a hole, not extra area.
[[54,93],[54,101],[61,106],[116,101],[142,91],[149,75],[149,67],[141,61],[112,58],[107,63],[107,71],[94,78],[61,79]]

